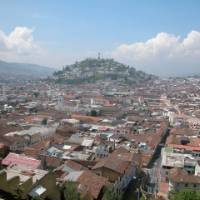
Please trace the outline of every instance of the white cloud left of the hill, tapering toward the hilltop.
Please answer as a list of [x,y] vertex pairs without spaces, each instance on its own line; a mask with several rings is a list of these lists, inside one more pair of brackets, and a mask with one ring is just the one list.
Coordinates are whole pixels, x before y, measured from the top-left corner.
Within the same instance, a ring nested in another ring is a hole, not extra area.
[[34,29],[16,27],[6,34],[0,30],[0,60],[46,65],[54,68],[87,57],[87,52],[72,54],[42,47],[33,37]]

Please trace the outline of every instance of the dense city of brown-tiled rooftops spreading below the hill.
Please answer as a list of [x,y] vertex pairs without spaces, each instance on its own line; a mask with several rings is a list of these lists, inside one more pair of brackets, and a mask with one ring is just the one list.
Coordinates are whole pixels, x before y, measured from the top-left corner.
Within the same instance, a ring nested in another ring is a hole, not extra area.
[[168,199],[199,188],[200,78],[144,82],[2,83],[2,198]]

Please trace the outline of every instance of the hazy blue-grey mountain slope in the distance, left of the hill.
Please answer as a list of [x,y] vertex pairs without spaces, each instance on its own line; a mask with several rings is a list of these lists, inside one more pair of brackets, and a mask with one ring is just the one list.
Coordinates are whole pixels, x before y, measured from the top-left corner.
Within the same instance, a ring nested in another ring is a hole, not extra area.
[[27,63],[9,63],[0,60],[0,81],[30,80],[51,76],[55,69]]

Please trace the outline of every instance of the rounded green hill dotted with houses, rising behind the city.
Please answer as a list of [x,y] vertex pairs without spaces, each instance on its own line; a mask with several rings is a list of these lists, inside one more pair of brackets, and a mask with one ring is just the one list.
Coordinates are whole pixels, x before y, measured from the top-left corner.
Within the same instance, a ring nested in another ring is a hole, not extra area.
[[134,67],[124,65],[113,59],[93,58],[67,65],[53,75],[56,83],[68,84],[93,83],[97,81],[138,84],[154,78],[154,75],[137,71]]

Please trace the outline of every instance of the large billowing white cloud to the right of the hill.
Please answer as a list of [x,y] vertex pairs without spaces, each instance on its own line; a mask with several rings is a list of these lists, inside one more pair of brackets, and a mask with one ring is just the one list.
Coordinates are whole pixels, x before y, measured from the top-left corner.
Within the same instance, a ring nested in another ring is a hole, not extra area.
[[155,74],[200,73],[200,32],[191,31],[185,38],[161,32],[145,42],[122,44],[111,56]]

